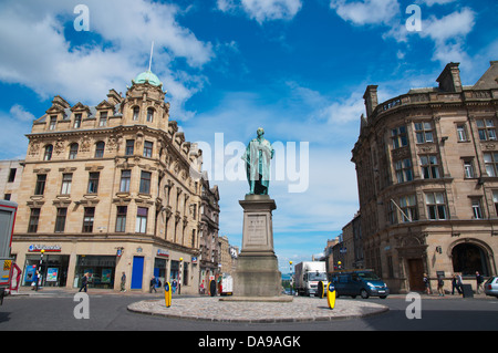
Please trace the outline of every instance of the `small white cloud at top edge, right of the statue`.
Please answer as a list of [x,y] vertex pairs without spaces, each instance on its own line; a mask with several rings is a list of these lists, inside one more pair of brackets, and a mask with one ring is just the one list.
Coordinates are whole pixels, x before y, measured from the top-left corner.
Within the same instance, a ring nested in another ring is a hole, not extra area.
[[397,0],[331,0],[330,8],[344,21],[357,25],[388,24],[401,11]]

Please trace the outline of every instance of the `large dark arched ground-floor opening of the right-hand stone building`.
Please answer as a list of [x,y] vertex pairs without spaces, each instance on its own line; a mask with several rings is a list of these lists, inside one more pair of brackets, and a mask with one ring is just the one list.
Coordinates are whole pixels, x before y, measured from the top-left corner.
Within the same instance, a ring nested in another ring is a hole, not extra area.
[[476,276],[479,271],[483,276],[489,276],[488,258],[481,247],[465,242],[452,250],[453,270],[463,276]]

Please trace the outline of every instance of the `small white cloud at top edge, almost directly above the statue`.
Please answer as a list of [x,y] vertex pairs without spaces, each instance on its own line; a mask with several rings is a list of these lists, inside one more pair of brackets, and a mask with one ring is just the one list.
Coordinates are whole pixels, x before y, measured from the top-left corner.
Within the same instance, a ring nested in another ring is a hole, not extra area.
[[241,9],[260,24],[272,20],[291,20],[301,10],[301,0],[217,0],[218,10],[236,12]]

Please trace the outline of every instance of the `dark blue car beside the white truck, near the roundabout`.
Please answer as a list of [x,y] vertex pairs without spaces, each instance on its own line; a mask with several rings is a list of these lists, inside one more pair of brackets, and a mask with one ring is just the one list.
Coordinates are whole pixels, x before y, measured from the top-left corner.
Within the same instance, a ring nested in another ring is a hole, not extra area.
[[387,298],[390,289],[372,270],[341,271],[332,273],[336,295]]

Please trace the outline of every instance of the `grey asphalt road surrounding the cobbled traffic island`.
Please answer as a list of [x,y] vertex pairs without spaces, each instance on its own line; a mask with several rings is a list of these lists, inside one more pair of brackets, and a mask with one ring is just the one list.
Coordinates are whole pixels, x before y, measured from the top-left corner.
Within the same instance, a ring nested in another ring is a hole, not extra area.
[[[90,319],[75,319],[74,293],[46,293],[37,297],[8,297],[0,307],[0,331],[392,331],[392,330],[498,330],[498,300],[490,298],[424,298],[421,302],[422,319],[407,319],[406,309],[411,302],[405,298],[392,297],[386,300],[369,299],[390,308],[383,314],[349,320],[297,323],[215,323],[194,320],[167,319],[129,312],[127,305],[141,300],[158,299],[160,294],[120,295],[90,294]],[[175,300],[191,300],[174,298]],[[350,300],[350,299],[347,299]],[[362,300],[362,299],[356,299]],[[342,299],[338,299],[336,307]]]

